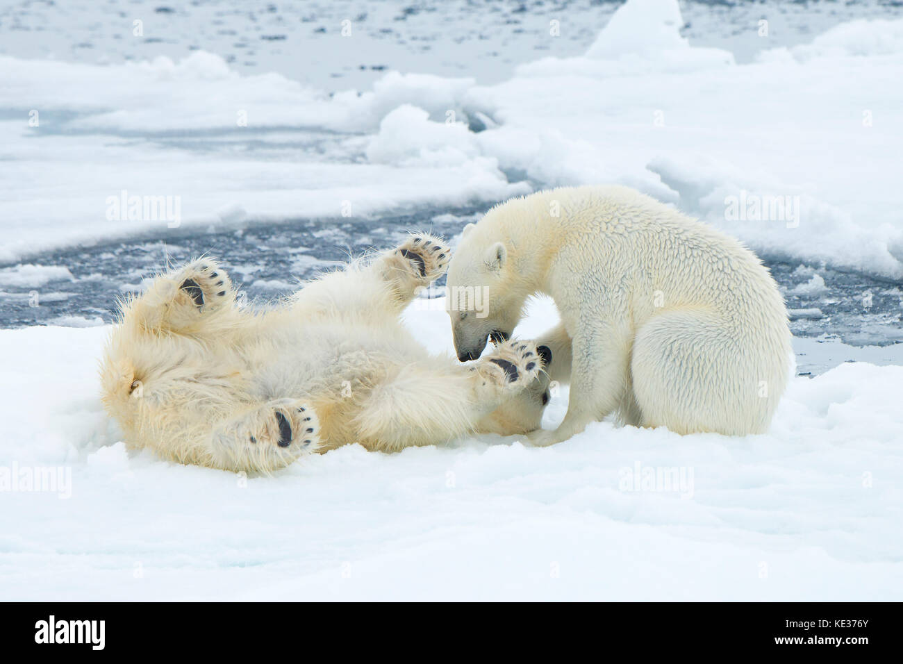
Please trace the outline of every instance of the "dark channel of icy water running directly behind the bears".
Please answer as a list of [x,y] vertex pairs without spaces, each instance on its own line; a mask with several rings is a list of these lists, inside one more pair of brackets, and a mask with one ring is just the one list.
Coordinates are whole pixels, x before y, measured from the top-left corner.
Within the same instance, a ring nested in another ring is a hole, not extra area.
[[[40,288],[5,285],[0,291],[0,327],[110,323],[117,297],[139,291],[142,281],[167,262],[178,264],[203,253],[219,257],[251,303],[266,304],[292,292],[299,280],[349,256],[394,246],[406,229],[428,229],[452,238],[488,207],[251,224],[217,232],[167,229],[165,239],[131,239],[34,256],[29,263],[66,267],[72,278]],[[901,284],[816,265],[766,262],[787,298],[796,336],[855,346],[903,342]],[[813,270],[824,279],[824,290],[795,290],[810,282]]]

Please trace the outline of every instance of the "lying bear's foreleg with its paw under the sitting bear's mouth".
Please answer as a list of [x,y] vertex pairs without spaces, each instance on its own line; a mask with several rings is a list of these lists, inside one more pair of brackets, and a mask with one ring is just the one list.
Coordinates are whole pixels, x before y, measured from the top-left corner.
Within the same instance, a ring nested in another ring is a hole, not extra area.
[[531,386],[542,366],[531,341],[499,344],[470,365],[405,364],[394,379],[373,390],[355,417],[362,444],[398,450],[472,433],[481,418]]

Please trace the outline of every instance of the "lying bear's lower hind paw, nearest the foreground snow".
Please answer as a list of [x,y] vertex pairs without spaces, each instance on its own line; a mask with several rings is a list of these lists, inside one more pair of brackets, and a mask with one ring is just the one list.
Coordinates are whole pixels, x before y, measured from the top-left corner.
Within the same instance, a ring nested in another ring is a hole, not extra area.
[[221,467],[268,471],[320,444],[320,422],[303,400],[275,399],[213,427],[209,454]]

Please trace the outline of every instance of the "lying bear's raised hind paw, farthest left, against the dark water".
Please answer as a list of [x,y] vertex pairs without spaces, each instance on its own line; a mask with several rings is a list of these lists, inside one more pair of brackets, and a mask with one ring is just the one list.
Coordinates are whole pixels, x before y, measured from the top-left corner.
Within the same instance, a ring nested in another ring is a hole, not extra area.
[[197,333],[234,310],[235,292],[225,270],[201,258],[155,278],[128,305],[127,315],[147,331]]

